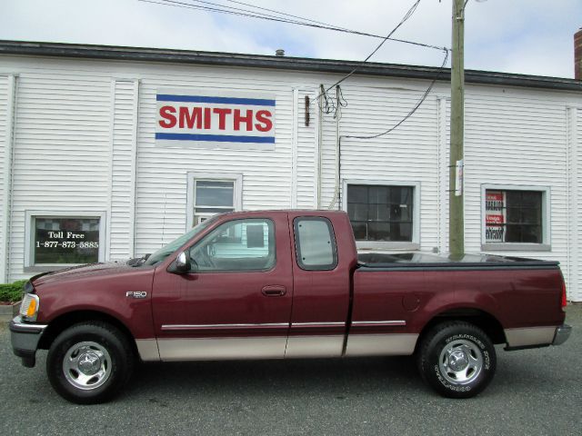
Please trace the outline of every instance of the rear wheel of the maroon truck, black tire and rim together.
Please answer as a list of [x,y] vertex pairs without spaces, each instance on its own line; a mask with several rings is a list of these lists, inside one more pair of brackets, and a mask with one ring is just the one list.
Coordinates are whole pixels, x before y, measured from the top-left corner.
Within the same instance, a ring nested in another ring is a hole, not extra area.
[[497,366],[487,334],[469,322],[444,322],[427,332],[417,351],[426,383],[448,398],[470,398],[483,391]]

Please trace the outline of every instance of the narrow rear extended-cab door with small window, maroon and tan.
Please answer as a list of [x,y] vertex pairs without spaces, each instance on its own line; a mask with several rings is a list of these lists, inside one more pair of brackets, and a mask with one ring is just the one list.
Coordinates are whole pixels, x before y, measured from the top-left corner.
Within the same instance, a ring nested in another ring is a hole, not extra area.
[[339,357],[346,334],[350,266],[347,253],[338,257],[337,242],[347,238],[336,235],[325,217],[299,215],[290,220],[294,302],[286,357]]

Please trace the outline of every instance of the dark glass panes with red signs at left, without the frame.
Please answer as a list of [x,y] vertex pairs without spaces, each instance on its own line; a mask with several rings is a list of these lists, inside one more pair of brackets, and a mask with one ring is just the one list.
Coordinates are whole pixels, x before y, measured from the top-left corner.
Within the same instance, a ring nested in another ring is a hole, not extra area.
[[486,243],[543,243],[543,193],[486,191]]

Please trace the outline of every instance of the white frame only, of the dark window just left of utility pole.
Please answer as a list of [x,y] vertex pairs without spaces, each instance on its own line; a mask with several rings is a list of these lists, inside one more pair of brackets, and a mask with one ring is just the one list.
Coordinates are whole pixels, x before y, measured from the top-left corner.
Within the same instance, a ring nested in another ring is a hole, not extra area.
[[[350,184],[364,184],[367,186],[400,186],[412,188],[412,241],[358,241],[358,249],[393,249],[419,250],[420,249],[420,182],[402,182],[396,180],[360,180],[346,179],[342,186],[342,209],[347,213],[347,190]],[[350,223],[351,224],[351,223]]]

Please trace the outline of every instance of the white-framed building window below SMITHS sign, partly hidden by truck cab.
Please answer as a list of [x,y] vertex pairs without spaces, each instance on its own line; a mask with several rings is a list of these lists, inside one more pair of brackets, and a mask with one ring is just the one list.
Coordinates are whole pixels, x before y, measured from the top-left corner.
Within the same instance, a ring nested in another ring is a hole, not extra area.
[[216,213],[239,211],[241,191],[240,174],[188,173],[188,228]]

